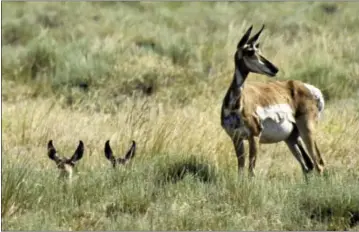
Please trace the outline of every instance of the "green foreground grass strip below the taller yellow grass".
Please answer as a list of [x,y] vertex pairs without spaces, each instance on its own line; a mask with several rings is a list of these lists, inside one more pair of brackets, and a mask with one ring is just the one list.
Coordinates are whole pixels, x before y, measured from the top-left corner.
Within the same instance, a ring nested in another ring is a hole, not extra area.
[[[34,171],[25,166],[19,170],[5,163],[4,227],[344,230],[359,213],[357,174],[313,177],[309,184],[285,176],[237,179],[226,170],[205,170],[201,167],[204,162],[190,157],[156,157],[127,169],[82,169],[65,190],[53,169]],[[173,158],[182,161],[169,160]],[[167,178],[188,165],[198,169]]]

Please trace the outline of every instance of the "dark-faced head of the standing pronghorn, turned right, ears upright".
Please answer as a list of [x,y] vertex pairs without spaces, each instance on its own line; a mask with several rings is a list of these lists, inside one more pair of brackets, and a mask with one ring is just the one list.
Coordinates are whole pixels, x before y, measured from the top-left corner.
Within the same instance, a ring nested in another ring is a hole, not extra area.
[[235,64],[237,67],[240,66],[241,70],[246,73],[253,72],[274,77],[278,72],[278,68],[261,54],[259,43],[257,43],[264,29],[264,25],[257,34],[250,38],[252,28],[253,26],[249,27],[238,42],[234,58]]

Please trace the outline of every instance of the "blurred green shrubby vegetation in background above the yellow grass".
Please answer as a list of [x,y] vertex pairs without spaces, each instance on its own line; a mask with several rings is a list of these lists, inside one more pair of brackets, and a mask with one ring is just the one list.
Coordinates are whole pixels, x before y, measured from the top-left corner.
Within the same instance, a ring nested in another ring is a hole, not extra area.
[[[262,50],[278,79],[358,96],[356,3],[62,2],[3,4],[2,75],[68,104],[101,108],[135,93],[188,104],[220,98],[237,40],[266,25]],[[260,77],[259,77],[260,78]],[[11,89],[11,87],[10,87]],[[96,105],[96,106],[95,106]]]

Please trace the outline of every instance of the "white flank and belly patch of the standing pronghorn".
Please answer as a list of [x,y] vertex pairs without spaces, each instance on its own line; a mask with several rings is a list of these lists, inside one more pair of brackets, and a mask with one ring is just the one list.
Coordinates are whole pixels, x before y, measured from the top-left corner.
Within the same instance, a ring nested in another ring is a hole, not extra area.
[[256,113],[262,125],[262,131],[259,135],[261,143],[277,143],[286,140],[292,133],[295,119],[290,105],[258,106]]

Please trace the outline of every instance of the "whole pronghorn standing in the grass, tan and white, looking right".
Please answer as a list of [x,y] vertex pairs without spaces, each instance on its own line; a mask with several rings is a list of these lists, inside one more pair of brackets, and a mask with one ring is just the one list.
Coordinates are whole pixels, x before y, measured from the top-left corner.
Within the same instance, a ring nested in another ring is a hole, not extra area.
[[[243,141],[249,142],[249,174],[254,175],[257,142],[285,141],[306,174],[314,167],[323,172],[324,161],[315,142],[315,125],[324,109],[321,91],[301,81],[244,82],[250,72],[274,77],[278,68],[264,58],[257,40],[262,28],[252,38],[252,26],[238,42],[234,55],[233,80],[224,97],[221,124],[231,137],[238,159],[238,170],[244,168]],[[307,152],[303,148],[303,142]],[[304,160],[303,160],[303,159]],[[319,160],[319,161],[318,161]]]

